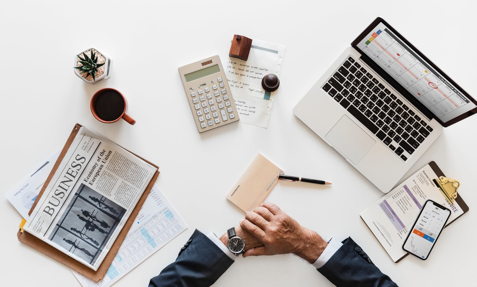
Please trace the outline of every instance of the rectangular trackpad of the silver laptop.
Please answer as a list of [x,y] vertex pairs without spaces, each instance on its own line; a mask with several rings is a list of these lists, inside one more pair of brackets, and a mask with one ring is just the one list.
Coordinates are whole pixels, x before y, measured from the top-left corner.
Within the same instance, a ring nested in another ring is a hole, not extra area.
[[346,115],[342,116],[338,123],[326,134],[325,138],[354,164],[358,164],[376,143],[371,136]]

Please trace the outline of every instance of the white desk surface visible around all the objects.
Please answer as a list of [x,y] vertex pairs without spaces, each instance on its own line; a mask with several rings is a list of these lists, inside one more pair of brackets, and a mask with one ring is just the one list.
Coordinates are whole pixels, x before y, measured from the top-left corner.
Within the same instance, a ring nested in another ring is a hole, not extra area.
[[[376,16],[477,95],[475,15],[468,5],[460,1],[104,2],[2,4],[0,183],[6,193],[62,147],[75,123],[159,165],[156,183],[189,228],[114,286],[147,286],[151,277],[174,261],[196,228],[219,234],[237,225],[244,214],[225,195],[257,153],[287,174],[332,182],[323,187],[280,181],[267,200],[323,236],[351,236],[399,286],[460,285],[474,278],[477,116],[446,128],[405,175],[436,161],[447,176],[461,181],[459,194],[470,211],[446,228],[429,260],[409,256],[395,264],[359,216],[383,193],[292,113]],[[97,28],[91,31],[92,26]],[[286,45],[269,128],[233,123],[199,134],[177,68],[221,54],[229,33]],[[73,74],[74,53],[89,46],[114,60],[112,77],[106,82],[91,85]],[[124,93],[129,114],[137,121],[134,126],[94,119],[90,99],[104,87]],[[320,107],[316,110],[319,113]],[[21,216],[5,198],[0,206],[4,217],[1,285],[79,286],[68,267],[17,240]],[[271,286],[272,282],[273,286],[332,286],[312,266],[291,255],[239,257],[214,286]]]

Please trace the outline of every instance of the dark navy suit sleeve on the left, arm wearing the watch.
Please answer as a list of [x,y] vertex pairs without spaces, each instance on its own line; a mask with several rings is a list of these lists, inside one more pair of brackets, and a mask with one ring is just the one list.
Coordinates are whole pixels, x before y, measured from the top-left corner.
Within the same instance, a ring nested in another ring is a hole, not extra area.
[[234,263],[197,229],[187,242],[176,261],[152,278],[149,287],[208,287]]

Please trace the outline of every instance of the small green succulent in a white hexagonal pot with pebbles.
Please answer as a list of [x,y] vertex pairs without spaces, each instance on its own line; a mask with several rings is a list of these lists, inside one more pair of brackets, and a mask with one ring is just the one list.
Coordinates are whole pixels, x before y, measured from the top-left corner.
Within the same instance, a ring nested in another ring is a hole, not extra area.
[[111,58],[91,47],[74,57],[74,73],[84,82],[95,84],[111,76]]

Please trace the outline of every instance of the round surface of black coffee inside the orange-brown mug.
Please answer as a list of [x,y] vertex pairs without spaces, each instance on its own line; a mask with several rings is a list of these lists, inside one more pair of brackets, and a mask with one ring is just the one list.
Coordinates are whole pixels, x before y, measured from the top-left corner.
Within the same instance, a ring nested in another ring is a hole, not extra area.
[[115,90],[104,90],[96,99],[95,110],[104,121],[114,121],[124,113],[124,98]]

